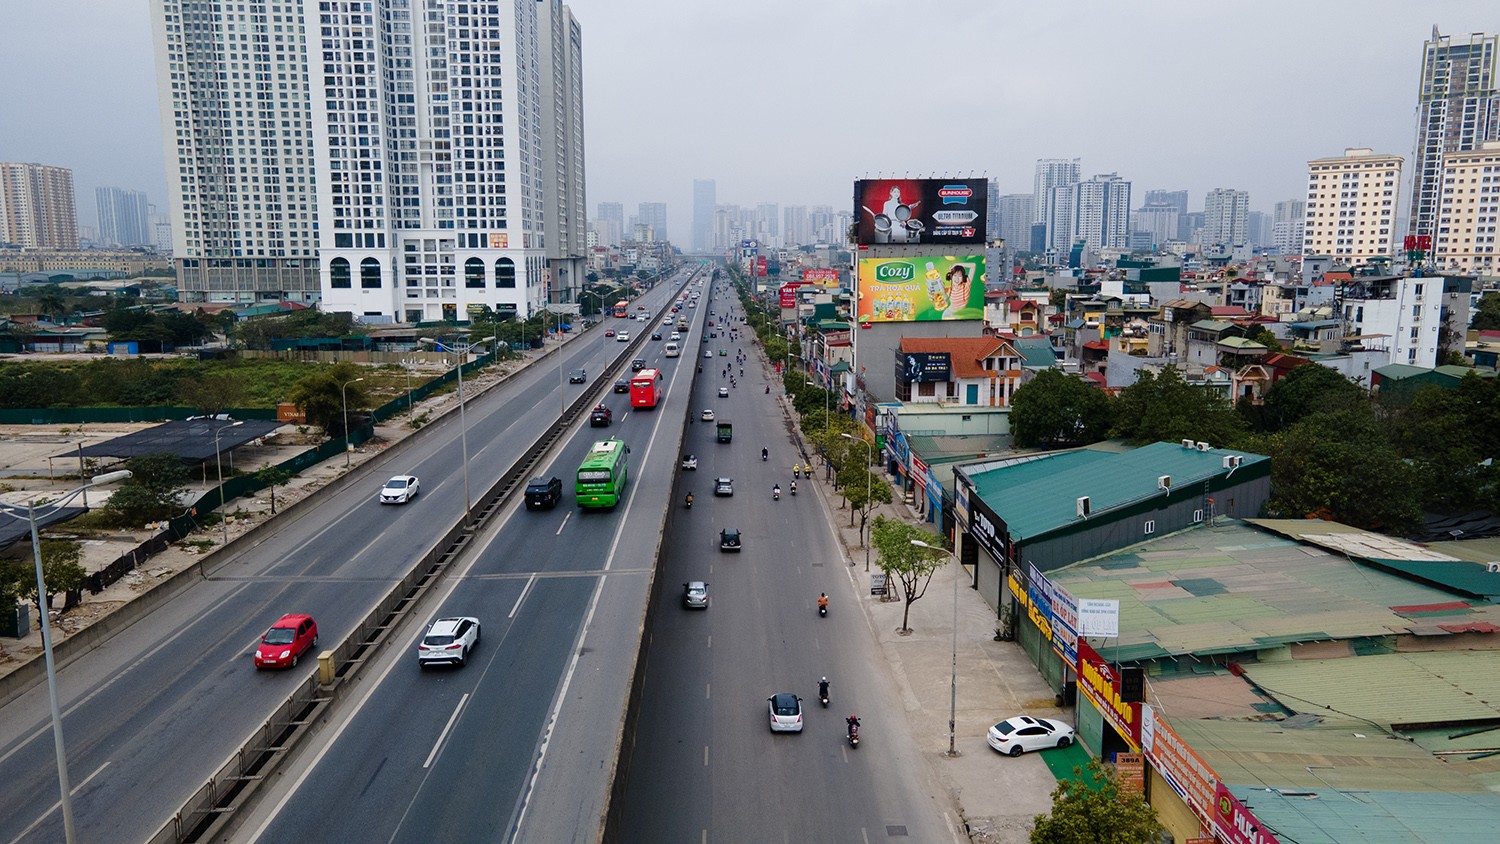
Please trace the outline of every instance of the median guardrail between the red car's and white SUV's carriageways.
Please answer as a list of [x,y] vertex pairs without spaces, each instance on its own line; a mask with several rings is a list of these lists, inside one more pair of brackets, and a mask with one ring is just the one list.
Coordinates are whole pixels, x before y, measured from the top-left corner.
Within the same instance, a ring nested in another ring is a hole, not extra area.
[[[688,276],[682,288],[696,277]],[[682,288],[678,288],[680,291]],[[662,309],[663,315],[670,313],[670,304]],[[648,324],[660,324],[664,316],[658,315]],[[354,631],[318,655],[318,675],[297,687],[286,697],[276,712],[264,724],[230,754],[230,759],[208,778],[189,799],[178,808],[165,825],[147,840],[147,844],[180,844],[184,841],[207,841],[214,838],[232,820],[246,801],[258,789],[260,783],[273,772],[282,759],[296,748],[297,742],[308,735],[304,729],[321,717],[326,708],[338,699],[342,682],[351,678],[400,625],[406,613],[412,612],[426,595],[428,588],[441,579],[450,562],[459,558],[468,543],[488,523],[490,514],[500,510],[518,486],[525,483],[532,468],[552,450],[558,439],[573,426],[574,421],[594,405],[594,396],[610,381],[620,366],[627,363],[645,343],[646,334],[627,343],[615,360],[604,367],[604,373],[594,378],[588,390],[573,400],[558,421],[542,432],[540,436],[500,475],[500,478],[478,498],[474,519],[465,523],[459,517],[458,523],[444,532],[426,553],[422,555],[402,580],[382,597],[375,607],[354,625]],[[561,354],[556,349],[554,354]],[[692,412],[692,408],[688,408]],[[417,432],[418,435],[422,432]],[[416,435],[414,435],[416,436]],[[412,438],[408,438],[408,441]],[[366,463],[368,466],[369,463]],[[350,477],[350,475],[344,475]],[[309,501],[314,496],[309,496]],[[298,502],[302,504],[302,502]],[[668,508],[670,510],[670,508]],[[634,694],[634,691],[632,693]]]

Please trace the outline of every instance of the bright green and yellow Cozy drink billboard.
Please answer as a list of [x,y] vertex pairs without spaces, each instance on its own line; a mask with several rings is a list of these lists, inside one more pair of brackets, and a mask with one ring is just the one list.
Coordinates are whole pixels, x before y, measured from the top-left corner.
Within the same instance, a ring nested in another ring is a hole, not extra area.
[[984,318],[982,255],[861,258],[860,322]]

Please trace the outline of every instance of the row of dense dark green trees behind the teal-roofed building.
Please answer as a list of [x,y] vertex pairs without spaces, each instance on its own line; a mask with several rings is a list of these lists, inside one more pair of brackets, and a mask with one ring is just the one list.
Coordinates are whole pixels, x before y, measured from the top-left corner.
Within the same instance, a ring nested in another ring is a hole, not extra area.
[[1268,510],[1322,516],[1392,534],[1424,513],[1500,510],[1500,384],[1470,373],[1455,390],[1374,397],[1338,372],[1306,364],[1256,405],[1230,405],[1176,369],[1142,372],[1118,397],[1059,370],[1017,390],[1011,432],[1022,448],[1194,439],[1272,459]]

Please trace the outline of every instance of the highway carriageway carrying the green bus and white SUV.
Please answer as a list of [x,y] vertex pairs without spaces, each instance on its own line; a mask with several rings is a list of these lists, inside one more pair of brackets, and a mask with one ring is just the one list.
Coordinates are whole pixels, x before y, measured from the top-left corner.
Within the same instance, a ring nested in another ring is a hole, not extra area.
[[[699,345],[696,331],[688,342]],[[429,619],[404,628],[366,667],[358,703],[288,765],[237,840],[597,835],[696,363],[664,358],[662,346],[642,357],[663,370],[666,402],[628,411],[615,396],[615,423],[582,423],[544,472],[566,478],[562,504],[512,505],[450,577],[429,618],[480,619],[470,663],[420,669],[416,643]],[[572,475],[603,436],[632,448],[627,499],[612,511],[579,510]]]

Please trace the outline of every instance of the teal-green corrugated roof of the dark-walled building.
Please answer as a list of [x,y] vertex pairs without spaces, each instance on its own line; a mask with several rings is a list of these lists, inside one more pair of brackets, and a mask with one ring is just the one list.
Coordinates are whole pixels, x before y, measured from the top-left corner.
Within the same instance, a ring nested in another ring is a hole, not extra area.
[[970,474],[986,505],[1005,519],[1010,532],[1032,538],[1076,523],[1078,496],[1089,496],[1096,519],[1112,507],[1166,495],[1156,489],[1160,475],[1172,477],[1172,495],[1191,495],[1192,484],[1222,475],[1226,454],[1240,454],[1245,465],[1268,460],[1209,448],[1198,451],[1173,442],[1154,442],[1122,453],[1094,448],[1058,451],[1020,465]]

